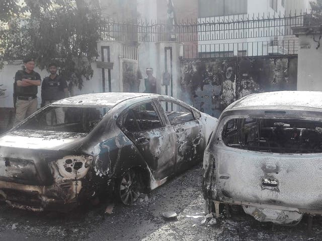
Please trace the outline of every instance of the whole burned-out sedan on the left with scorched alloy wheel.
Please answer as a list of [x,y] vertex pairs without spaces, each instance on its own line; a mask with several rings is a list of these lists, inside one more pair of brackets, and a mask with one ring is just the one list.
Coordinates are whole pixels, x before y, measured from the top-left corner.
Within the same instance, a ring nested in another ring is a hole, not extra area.
[[0,136],[0,200],[30,210],[69,210],[100,195],[131,204],[201,161],[216,123],[166,95],[56,101]]

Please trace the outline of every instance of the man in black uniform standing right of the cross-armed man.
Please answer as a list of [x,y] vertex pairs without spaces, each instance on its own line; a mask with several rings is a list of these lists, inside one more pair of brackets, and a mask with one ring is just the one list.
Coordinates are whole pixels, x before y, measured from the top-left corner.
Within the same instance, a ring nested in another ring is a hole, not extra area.
[[[50,63],[48,65],[50,75],[42,81],[41,84],[41,105],[45,106],[56,100],[68,97],[68,88],[66,81],[57,74],[57,65]],[[63,108],[55,108],[56,124],[62,124],[65,121],[65,112]],[[52,125],[52,113],[46,115],[48,126]]]

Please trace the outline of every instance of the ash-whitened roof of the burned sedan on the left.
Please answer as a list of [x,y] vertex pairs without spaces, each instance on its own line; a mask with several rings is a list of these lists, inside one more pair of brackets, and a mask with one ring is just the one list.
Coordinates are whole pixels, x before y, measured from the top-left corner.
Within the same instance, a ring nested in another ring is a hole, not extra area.
[[141,96],[157,95],[151,93],[132,93],[132,92],[106,92],[90,93],[72,96],[53,102],[53,105],[95,105],[95,106],[115,106],[118,103]]

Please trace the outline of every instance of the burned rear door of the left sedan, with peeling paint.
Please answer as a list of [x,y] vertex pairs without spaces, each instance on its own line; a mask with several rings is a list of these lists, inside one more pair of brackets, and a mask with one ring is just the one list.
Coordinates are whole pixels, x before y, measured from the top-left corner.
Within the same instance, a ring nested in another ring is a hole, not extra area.
[[121,130],[134,143],[156,180],[174,173],[176,137],[164,125],[152,101],[130,107],[121,116]]

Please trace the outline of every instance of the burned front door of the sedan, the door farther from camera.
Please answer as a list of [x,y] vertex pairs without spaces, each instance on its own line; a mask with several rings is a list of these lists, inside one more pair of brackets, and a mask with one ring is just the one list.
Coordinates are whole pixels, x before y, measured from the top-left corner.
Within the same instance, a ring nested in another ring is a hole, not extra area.
[[201,160],[204,151],[204,136],[193,111],[173,100],[159,100],[176,133],[176,172],[193,166]]

